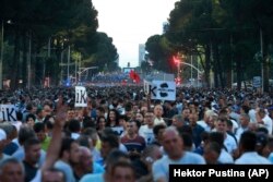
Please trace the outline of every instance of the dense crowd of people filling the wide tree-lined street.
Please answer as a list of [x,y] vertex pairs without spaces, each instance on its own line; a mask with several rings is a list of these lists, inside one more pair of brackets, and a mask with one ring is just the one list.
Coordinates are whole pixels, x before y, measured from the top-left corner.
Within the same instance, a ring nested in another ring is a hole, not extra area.
[[253,90],[142,86],[2,92],[17,121],[0,123],[0,182],[167,182],[170,163],[272,165],[273,98]]

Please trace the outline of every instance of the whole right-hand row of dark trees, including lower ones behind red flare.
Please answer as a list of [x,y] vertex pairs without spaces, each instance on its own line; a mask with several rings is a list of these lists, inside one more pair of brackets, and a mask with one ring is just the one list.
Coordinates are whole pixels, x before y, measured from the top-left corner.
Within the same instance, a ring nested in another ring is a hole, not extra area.
[[[164,34],[151,36],[147,59],[157,70],[174,72],[173,56],[195,56],[204,81],[214,74],[215,87],[230,87],[261,76],[269,92],[273,77],[273,1],[180,0],[170,12]],[[163,66],[163,65],[169,66]],[[143,63],[145,66],[145,63]],[[234,74],[233,74],[234,73]]]

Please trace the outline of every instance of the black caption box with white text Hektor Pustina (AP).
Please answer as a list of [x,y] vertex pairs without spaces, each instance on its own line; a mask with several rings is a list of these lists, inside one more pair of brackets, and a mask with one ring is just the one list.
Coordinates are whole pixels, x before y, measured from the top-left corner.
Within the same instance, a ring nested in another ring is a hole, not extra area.
[[170,182],[273,181],[272,165],[170,165]]

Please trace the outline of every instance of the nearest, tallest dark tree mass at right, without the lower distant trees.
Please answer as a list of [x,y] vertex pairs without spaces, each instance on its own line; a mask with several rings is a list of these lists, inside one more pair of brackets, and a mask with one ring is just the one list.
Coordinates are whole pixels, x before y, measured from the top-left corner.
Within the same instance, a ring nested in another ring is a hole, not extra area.
[[[170,12],[166,37],[177,51],[192,53],[193,50],[204,54],[201,63],[206,82],[212,69],[216,87],[225,87],[235,69],[238,89],[240,82],[253,74],[250,64],[257,65],[253,58],[260,51],[260,38],[263,38],[262,58],[268,82],[269,61],[264,60],[270,60],[266,59],[268,47],[272,43],[271,4],[268,0],[181,0]],[[265,82],[264,86],[266,89]]]

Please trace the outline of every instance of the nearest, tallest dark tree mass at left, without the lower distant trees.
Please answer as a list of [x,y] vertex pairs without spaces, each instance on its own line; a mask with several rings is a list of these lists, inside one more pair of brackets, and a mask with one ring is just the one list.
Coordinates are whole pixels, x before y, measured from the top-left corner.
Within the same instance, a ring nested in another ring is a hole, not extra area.
[[[9,43],[14,47],[13,60],[10,62],[13,69],[7,73],[12,80],[12,88],[16,87],[20,77],[26,81],[29,45],[32,57],[28,59],[32,61],[32,68],[39,70],[43,62],[47,61],[46,64],[52,65],[50,72],[57,83],[59,60],[61,52],[66,49],[63,40],[69,39],[70,46],[75,50],[88,49],[81,43],[86,37],[94,36],[98,26],[97,11],[90,0],[22,0],[20,2],[3,0],[0,7],[1,21],[12,22],[10,25],[12,28],[7,28]],[[55,50],[51,51],[51,58],[40,58],[45,54],[43,52],[49,41]],[[91,44],[95,43],[88,43]],[[21,51],[23,52],[22,59]],[[86,54],[86,57],[90,56]],[[14,74],[14,72],[22,74]],[[35,78],[35,75],[33,76]]]

